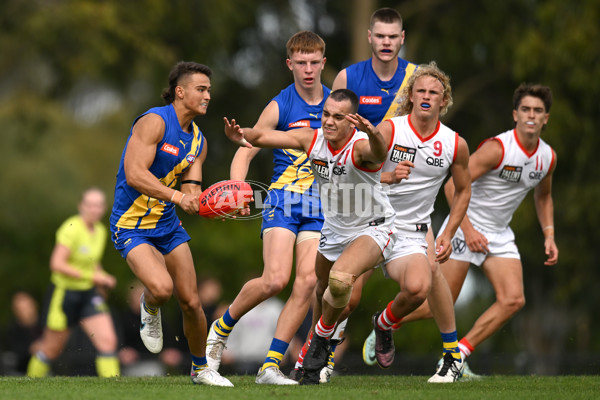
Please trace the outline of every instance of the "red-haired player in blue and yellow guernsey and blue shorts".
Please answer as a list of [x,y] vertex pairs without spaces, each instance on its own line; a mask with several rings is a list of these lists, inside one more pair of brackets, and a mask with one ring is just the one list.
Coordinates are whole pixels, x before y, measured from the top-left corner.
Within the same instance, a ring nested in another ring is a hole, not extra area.
[[[286,64],[294,83],[282,90],[263,110],[255,127],[291,129],[321,127],[321,114],[330,90],[321,84],[325,42],[310,31],[294,34],[287,42]],[[260,148],[240,148],[231,164],[231,179],[246,178],[250,161]],[[310,161],[301,150],[273,149],[274,173],[265,201],[261,236],[264,270],[261,277],[242,287],[225,314],[210,329],[207,340],[209,365],[217,369],[227,338],[235,323],[265,299],[277,295],[289,282],[296,256],[296,277],[290,298],[256,383],[293,385],[279,364],[309,309],[316,284],[315,258],[323,225],[319,193]]]

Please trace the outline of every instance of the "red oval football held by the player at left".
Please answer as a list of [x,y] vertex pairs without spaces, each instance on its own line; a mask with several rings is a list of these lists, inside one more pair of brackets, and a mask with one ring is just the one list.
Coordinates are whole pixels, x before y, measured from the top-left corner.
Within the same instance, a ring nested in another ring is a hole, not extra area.
[[252,196],[252,187],[244,181],[217,182],[200,195],[198,214],[205,218],[223,218],[247,206]]

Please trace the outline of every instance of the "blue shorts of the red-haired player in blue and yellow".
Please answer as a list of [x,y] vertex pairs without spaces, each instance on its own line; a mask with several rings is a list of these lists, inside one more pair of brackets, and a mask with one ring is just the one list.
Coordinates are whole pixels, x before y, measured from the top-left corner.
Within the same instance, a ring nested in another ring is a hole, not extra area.
[[265,199],[263,223],[260,231],[267,228],[286,228],[295,235],[300,231],[321,231],[323,213],[321,201],[317,196],[271,189]]

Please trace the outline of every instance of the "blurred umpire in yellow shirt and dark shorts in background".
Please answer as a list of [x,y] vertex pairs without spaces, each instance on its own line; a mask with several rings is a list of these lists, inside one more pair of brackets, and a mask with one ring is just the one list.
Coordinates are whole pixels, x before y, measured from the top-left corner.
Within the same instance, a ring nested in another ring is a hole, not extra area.
[[100,377],[119,376],[117,335],[108,307],[98,288],[115,287],[117,280],[101,265],[108,234],[100,222],[106,198],[99,189],[88,189],[79,213],[56,232],[50,257],[50,288],[44,301],[44,333],[27,366],[27,376],[44,377],[51,362],[63,351],[71,328],[80,324],[96,348],[96,372]]

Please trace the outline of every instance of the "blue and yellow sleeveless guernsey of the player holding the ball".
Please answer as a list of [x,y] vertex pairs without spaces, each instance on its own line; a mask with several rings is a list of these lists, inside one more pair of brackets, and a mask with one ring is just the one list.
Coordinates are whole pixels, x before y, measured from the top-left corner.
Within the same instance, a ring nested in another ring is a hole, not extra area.
[[[131,131],[141,117],[150,113],[159,115],[165,121],[165,133],[156,146],[156,155],[149,170],[163,185],[175,188],[181,174],[200,155],[204,146],[204,136],[193,121],[193,133],[183,131],[172,104],[146,111],[135,119]],[[175,205],[141,194],[127,184],[123,166],[126,150],[127,145],[123,150],[117,173],[115,200],[110,215],[112,233],[118,234],[119,229],[145,229],[148,236],[162,236],[172,232],[180,224]]]

